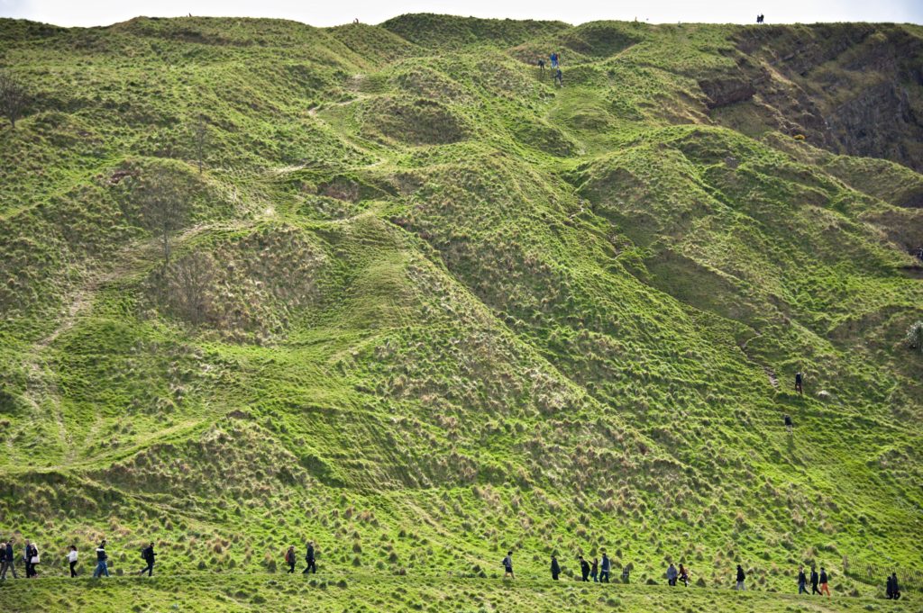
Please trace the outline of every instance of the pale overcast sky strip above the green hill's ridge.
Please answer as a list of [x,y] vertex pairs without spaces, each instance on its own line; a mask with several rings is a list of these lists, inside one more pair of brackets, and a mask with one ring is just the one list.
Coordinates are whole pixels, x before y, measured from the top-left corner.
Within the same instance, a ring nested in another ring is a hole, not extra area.
[[766,23],[893,21],[923,24],[923,0],[0,0],[0,17],[59,26],[104,26],[138,16],[266,17],[334,26],[358,18],[380,23],[403,13],[446,13],[481,18],[638,18],[652,23],[702,21]]

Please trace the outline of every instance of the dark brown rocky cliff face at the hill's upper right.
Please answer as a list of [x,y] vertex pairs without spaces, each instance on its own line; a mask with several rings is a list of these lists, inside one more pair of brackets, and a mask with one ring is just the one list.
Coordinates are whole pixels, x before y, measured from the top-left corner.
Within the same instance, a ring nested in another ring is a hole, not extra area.
[[[713,120],[767,127],[835,153],[923,171],[923,39],[915,26],[821,24],[748,28],[737,71],[704,77]],[[746,109],[731,110],[740,104]]]

